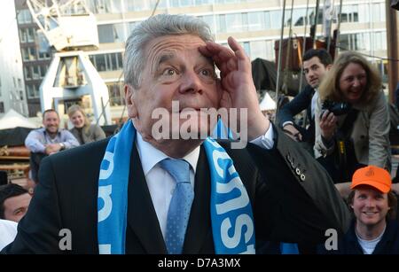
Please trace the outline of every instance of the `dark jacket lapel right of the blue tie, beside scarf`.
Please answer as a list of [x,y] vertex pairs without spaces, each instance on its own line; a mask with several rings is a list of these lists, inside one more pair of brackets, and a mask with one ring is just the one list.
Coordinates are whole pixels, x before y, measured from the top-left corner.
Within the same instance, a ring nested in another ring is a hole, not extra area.
[[185,233],[183,253],[200,253],[207,237],[212,238],[210,221],[210,172],[207,154],[201,145],[200,158],[195,171],[195,197]]

